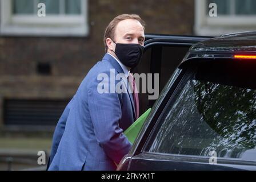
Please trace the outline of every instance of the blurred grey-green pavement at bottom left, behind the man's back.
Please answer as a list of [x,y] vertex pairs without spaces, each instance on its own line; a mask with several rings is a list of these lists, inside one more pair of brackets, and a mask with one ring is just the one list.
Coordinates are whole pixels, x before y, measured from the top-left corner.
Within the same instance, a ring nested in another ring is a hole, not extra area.
[[39,165],[38,151],[46,152],[46,163],[50,154],[51,138],[1,137],[0,170],[45,170]]

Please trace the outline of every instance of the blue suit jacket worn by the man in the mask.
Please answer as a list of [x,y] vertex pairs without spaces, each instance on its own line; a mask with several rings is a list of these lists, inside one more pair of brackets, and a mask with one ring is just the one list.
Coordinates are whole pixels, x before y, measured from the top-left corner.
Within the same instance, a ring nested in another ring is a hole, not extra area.
[[[114,162],[118,164],[129,152],[131,143],[123,131],[134,122],[133,97],[97,92],[99,82],[103,83],[97,79],[100,73],[110,78],[123,70],[106,53],[87,73],[55,128],[49,170],[114,170]],[[120,81],[127,80],[104,83]]]

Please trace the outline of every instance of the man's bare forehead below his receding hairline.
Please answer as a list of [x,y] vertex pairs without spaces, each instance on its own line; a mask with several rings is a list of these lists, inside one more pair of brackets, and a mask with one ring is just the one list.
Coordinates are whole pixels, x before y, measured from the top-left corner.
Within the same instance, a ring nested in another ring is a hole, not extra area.
[[116,28],[117,34],[126,35],[126,34],[141,34],[144,35],[144,29],[139,23],[138,20],[135,19],[126,19],[122,20],[117,24]]

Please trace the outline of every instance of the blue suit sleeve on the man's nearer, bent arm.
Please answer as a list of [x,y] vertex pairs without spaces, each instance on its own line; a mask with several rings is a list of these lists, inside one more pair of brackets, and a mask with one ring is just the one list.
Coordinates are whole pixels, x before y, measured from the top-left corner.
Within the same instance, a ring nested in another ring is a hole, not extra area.
[[[97,92],[98,83],[94,81],[87,93],[90,117],[99,145],[118,164],[131,148],[131,143],[118,125],[122,117],[122,98],[118,93]],[[105,84],[110,83],[106,81]]]

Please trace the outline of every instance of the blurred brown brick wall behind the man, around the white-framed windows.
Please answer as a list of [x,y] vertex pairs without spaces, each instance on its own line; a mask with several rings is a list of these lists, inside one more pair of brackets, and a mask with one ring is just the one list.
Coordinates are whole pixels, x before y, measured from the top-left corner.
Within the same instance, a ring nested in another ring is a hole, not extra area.
[[[146,33],[193,34],[194,2],[190,0],[91,0],[88,7],[86,38],[0,36],[0,104],[3,98],[72,97],[103,56],[103,33],[118,14],[139,14],[146,21]],[[38,74],[38,63],[49,63],[51,74]],[[0,125],[2,110],[1,104]]]

